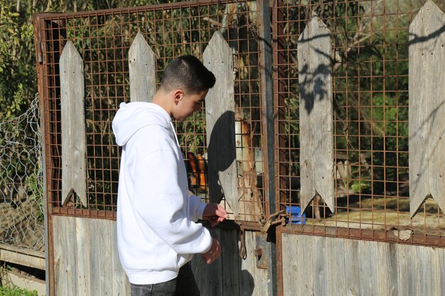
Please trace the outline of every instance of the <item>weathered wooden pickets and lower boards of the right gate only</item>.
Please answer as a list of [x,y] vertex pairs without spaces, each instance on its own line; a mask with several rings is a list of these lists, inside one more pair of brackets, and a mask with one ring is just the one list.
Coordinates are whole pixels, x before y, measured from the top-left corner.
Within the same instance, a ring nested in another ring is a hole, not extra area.
[[[409,26],[409,204],[411,218],[427,197],[445,210],[444,83],[445,14],[427,1]],[[299,38],[301,205],[319,194],[333,210],[334,163],[331,114],[331,33],[313,16]],[[439,222],[440,224],[440,222]],[[277,229],[279,295],[445,295],[445,249],[301,236]],[[348,231],[351,231],[350,229]],[[413,231],[385,234],[386,241],[411,239]],[[307,234],[316,233],[314,226]],[[370,231],[372,237],[374,231]],[[442,236],[436,241],[444,246]]]

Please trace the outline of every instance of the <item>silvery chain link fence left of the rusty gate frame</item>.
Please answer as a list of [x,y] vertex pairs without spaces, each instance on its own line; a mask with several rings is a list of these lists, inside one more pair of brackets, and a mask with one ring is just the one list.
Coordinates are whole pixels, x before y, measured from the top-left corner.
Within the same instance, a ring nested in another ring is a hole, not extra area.
[[43,251],[43,165],[38,97],[0,122],[0,244]]

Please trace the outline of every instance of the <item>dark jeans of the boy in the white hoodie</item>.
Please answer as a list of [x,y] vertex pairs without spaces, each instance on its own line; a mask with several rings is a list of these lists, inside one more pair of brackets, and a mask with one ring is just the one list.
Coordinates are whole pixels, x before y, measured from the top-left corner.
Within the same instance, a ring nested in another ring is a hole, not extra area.
[[130,284],[132,296],[200,296],[190,263],[179,269],[178,278],[153,285]]

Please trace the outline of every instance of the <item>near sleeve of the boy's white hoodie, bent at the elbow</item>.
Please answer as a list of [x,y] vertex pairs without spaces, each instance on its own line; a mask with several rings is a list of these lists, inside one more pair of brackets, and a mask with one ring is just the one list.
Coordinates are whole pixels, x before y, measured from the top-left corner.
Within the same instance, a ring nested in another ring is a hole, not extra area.
[[181,172],[172,150],[156,150],[139,158],[134,171],[134,211],[176,253],[205,253],[212,238],[208,229],[192,221],[200,212],[195,199],[189,200],[193,215],[188,213],[188,197],[179,184]]

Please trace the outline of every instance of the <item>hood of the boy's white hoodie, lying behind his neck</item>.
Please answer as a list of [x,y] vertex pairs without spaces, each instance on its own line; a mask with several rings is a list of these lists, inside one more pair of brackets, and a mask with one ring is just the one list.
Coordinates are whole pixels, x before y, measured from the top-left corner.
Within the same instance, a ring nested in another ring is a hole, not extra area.
[[170,116],[161,106],[148,102],[121,103],[112,124],[117,145],[124,146],[136,131],[154,124],[171,129]]

